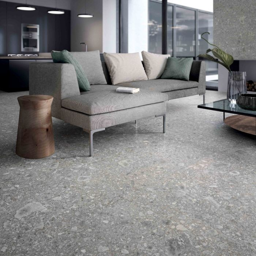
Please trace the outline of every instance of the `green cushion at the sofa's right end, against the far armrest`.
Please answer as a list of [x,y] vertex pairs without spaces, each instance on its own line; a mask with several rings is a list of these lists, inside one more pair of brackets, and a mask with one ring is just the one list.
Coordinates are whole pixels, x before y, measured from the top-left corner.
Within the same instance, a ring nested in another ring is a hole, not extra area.
[[193,58],[168,57],[162,79],[189,80]]

